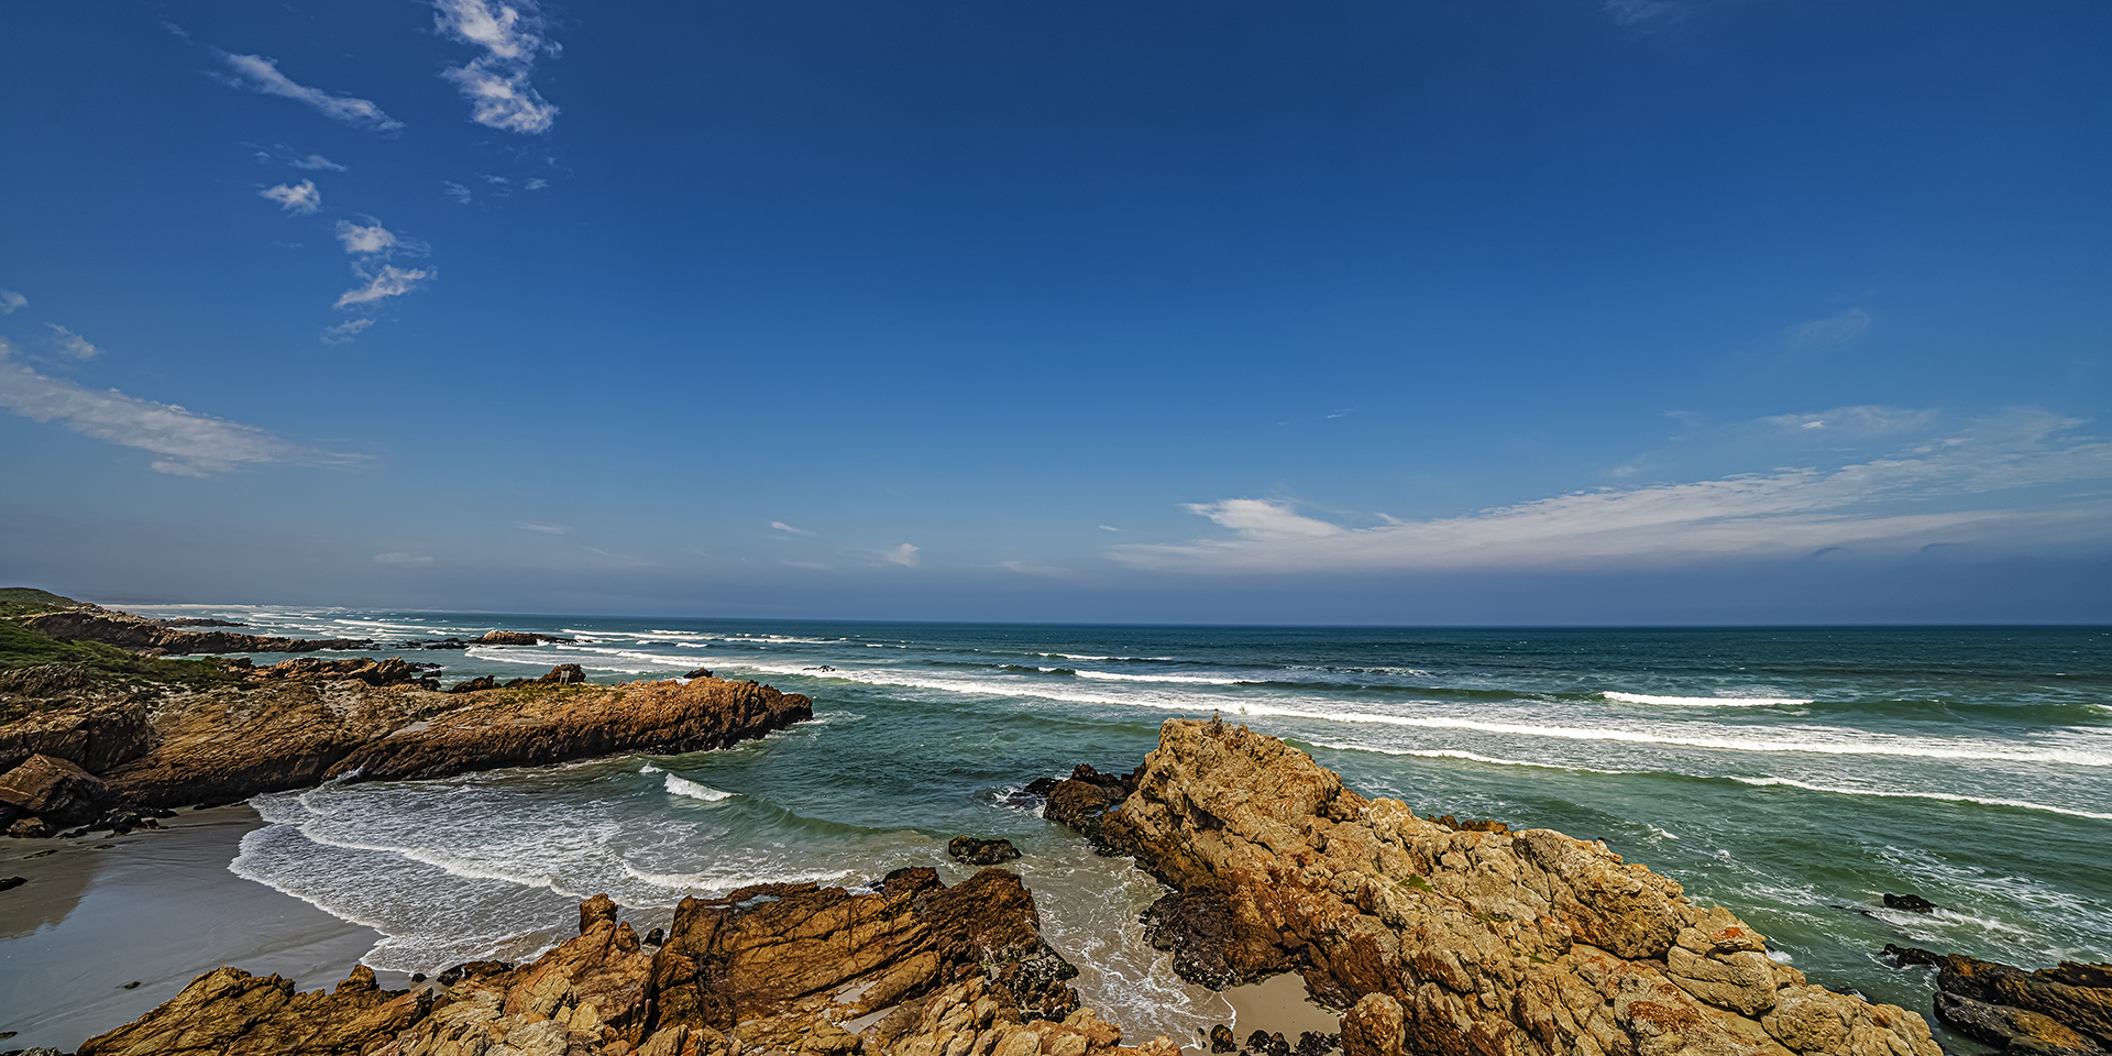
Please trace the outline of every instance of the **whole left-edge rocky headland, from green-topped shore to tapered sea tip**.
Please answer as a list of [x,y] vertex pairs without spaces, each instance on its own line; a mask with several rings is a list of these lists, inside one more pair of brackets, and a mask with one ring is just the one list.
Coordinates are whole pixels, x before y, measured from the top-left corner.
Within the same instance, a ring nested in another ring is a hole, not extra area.
[[340,777],[697,752],[813,718],[807,697],[756,682],[604,686],[560,665],[441,693],[431,665],[395,657],[146,659],[38,634],[44,619],[0,621],[0,830],[15,836],[150,826],[156,811]]

